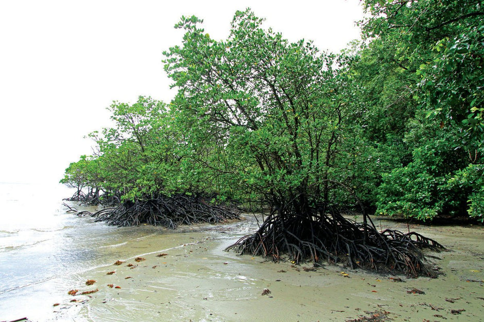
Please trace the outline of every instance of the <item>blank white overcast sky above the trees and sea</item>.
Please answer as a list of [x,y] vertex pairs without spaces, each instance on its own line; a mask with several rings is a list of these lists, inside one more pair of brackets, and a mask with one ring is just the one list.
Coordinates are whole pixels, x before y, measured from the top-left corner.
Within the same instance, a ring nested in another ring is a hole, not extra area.
[[58,182],[90,154],[89,132],[109,126],[113,100],[174,96],[163,50],[181,42],[182,15],[215,39],[250,7],[290,41],[339,51],[359,37],[359,0],[0,0],[0,182]]

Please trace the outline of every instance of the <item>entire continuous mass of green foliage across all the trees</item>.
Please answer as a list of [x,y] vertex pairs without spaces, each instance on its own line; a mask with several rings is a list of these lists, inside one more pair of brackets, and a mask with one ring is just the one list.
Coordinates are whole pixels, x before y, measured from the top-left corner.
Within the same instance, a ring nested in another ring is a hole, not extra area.
[[250,10],[220,41],[182,17],[183,42],[164,53],[176,98],[114,103],[96,153],[61,182],[98,202],[203,192],[280,215],[359,203],[483,220],[481,1],[363,3],[364,42],[338,55]]

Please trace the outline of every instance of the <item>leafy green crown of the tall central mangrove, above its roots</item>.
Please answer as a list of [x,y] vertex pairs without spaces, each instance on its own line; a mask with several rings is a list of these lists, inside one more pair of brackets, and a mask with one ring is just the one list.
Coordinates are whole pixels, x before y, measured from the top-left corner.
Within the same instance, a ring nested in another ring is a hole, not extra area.
[[351,130],[345,58],[289,44],[249,11],[236,13],[227,41],[211,39],[199,23],[184,18],[183,46],[165,53],[180,88],[173,107],[190,120],[191,135],[219,142],[238,160],[228,171],[252,198],[290,200],[301,211],[342,197],[330,186],[350,175],[341,168]]

